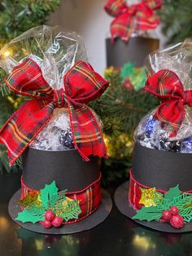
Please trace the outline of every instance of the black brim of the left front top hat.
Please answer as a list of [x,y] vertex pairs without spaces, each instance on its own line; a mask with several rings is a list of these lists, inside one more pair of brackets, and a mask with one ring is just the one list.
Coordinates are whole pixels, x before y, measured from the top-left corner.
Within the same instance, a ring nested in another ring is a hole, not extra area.
[[20,193],[20,190],[15,192],[14,196],[11,197],[11,201],[9,202],[8,211],[11,218],[21,227],[41,234],[67,235],[89,230],[96,227],[99,223],[102,223],[111,213],[112,209],[111,196],[105,190],[102,190],[101,205],[98,207],[98,210],[94,211],[93,214],[90,214],[87,218],[77,223],[66,224],[59,228],[51,227],[46,229],[40,223],[21,223],[20,221],[15,220],[17,214],[21,211],[20,205],[18,205],[18,201],[20,201]]

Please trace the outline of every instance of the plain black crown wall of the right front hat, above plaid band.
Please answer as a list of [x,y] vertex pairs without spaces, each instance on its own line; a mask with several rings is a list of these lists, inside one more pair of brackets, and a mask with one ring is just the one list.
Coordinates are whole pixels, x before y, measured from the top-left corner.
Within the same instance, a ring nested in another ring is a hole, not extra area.
[[151,188],[168,190],[177,186],[192,190],[192,155],[142,147],[133,149],[133,178]]

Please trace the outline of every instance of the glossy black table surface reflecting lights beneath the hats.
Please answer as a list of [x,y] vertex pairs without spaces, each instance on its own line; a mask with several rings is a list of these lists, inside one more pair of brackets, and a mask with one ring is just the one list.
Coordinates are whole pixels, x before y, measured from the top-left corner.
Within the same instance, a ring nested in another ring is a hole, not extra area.
[[19,188],[20,174],[0,176],[0,256],[192,256],[192,233],[151,231],[124,217],[115,205],[110,216],[90,231],[67,236],[29,232],[7,212],[8,201]]

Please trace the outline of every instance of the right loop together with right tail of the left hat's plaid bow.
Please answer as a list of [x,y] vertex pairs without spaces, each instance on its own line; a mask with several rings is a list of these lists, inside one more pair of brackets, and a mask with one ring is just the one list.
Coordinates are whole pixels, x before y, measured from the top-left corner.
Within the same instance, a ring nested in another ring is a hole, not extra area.
[[91,154],[107,157],[98,117],[85,103],[101,96],[108,85],[109,82],[83,61],[76,63],[64,78],[73,141],[85,161],[89,161]]

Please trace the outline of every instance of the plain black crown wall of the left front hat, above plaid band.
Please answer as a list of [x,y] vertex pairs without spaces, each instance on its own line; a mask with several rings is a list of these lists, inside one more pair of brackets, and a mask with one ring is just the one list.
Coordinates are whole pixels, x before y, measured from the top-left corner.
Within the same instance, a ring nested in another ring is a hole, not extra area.
[[24,183],[35,190],[56,181],[59,191],[80,191],[99,177],[100,158],[84,161],[76,149],[43,151],[28,148],[23,157]]

